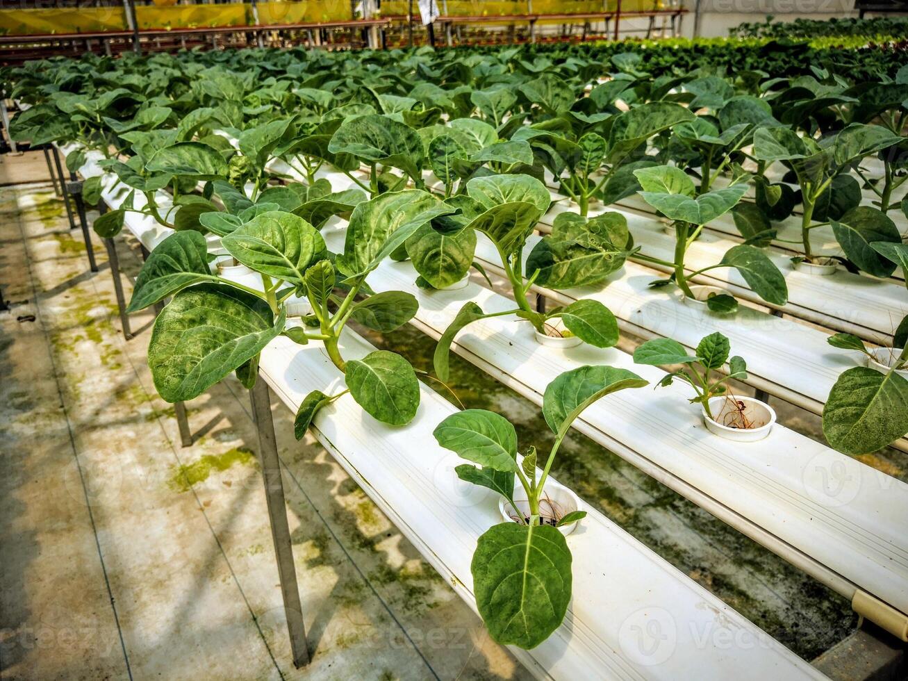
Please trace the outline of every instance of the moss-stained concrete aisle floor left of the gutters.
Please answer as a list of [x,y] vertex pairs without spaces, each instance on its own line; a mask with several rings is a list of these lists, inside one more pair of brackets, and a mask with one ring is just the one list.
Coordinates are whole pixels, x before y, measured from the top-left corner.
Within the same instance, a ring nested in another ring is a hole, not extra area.
[[0,676],[527,676],[272,399],[312,653],[294,669],[247,395],[192,400],[181,448],[151,318],[123,340],[97,255],[92,274],[49,185],[0,190]]

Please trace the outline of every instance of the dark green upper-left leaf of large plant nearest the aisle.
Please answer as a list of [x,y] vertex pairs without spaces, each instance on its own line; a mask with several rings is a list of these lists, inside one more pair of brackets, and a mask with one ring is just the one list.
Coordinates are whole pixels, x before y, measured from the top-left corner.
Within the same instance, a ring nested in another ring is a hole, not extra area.
[[173,232],[148,256],[126,311],[137,312],[187,286],[214,280],[208,247],[199,232]]

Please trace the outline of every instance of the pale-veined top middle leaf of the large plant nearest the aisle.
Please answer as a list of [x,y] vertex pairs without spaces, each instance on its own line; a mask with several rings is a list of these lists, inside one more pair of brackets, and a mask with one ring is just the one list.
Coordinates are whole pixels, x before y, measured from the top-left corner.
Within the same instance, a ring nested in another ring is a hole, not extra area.
[[223,247],[252,270],[302,283],[305,271],[325,257],[321,234],[291,212],[264,212],[222,239]]

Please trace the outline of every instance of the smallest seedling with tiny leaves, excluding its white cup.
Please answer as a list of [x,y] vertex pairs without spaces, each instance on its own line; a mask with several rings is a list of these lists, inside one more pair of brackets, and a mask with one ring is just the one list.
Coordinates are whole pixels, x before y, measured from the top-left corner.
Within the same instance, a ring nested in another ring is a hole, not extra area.
[[[731,343],[728,339],[716,331],[702,339],[696,346],[696,355],[687,354],[687,350],[678,341],[669,338],[656,338],[652,341],[646,341],[637,347],[634,351],[634,361],[637,364],[649,364],[655,367],[671,366],[673,364],[682,364],[684,367],[666,374],[663,380],[659,381],[659,386],[665,387],[672,384],[674,380],[683,380],[694,389],[694,397],[690,399],[692,404],[703,405],[706,416],[709,419],[716,420],[713,410],[709,406],[709,400],[717,395],[725,395],[728,392],[727,382],[729,380],[745,380],[747,378],[747,364],[745,360],[735,355],[728,357],[731,351]],[[725,376],[714,374],[713,372],[725,366],[728,363],[728,371]],[[746,428],[745,419],[743,419],[742,410],[738,412],[738,417],[734,417],[734,422],[723,423],[722,425],[733,428]]]

